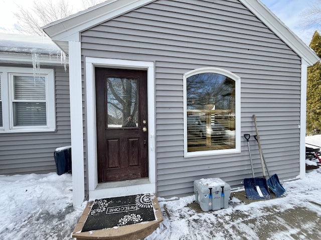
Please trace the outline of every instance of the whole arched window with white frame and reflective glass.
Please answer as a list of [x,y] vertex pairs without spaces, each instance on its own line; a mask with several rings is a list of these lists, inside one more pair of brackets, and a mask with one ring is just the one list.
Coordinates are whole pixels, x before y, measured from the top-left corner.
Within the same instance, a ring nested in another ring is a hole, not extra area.
[[215,67],[184,74],[185,156],[240,151],[240,77]]

